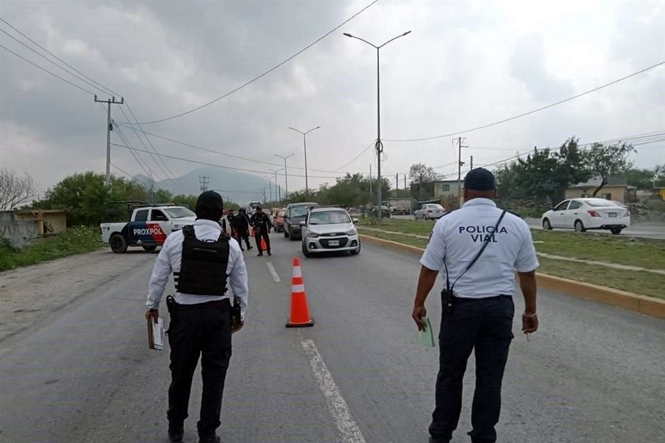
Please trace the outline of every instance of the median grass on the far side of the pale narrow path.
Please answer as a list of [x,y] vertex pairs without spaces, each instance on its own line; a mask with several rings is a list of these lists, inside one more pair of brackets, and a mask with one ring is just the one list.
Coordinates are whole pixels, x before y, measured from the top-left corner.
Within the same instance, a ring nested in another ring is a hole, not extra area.
[[[361,231],[362,228],[378,228],[428,236],[432,232],[434,221],[386,220],[381,225],[369,226],[369,224],[360,223],[357,227]],[[365,232],[378,237],[378,233]],[[533,241],[536,242],[535,249],[538,252],[583,260],[640,266],[646,269],[665,269],[665,240],[662,239],[553,230],[531,230],[531,235],[533,235]],[[396,236],[395,241],[401,241],[399,236]]]

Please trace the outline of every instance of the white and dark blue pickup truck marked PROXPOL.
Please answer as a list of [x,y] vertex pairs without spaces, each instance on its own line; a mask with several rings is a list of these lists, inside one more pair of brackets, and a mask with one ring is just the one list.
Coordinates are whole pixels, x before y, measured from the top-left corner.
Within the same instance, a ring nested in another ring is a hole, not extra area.
[[183,206],[139,206],[130,221],[103,223],[99,230],[102,242],[110,244],[114,253],[124,253],[128,246],[154,251],[170,233],[194,224],[195,219],[196,215]]

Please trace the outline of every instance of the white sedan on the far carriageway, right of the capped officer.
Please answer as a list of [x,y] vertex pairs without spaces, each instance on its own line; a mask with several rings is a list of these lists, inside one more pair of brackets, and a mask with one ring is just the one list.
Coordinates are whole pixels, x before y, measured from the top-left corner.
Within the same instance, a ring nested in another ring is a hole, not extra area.
[[578,233],[605,229],[618,235],[630,226],[630,210],[605,199],[569,199],[544,213],[541,221],[543,229],[572,228]]

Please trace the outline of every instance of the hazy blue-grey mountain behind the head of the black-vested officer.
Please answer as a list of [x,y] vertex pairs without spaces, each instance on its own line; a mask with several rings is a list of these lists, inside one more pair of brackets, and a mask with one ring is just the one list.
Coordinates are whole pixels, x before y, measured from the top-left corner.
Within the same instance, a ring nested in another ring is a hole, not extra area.
[[[224,201],[232,200],[241,205],[248,204],[249,201],[263,201],[264,188],[265,199],[272,200],[269,197],[270,190],[267,179],[236,170],[220,170],[220,168],[204,166],[196,168],[181,177],[177,177],[177,181],[162,180],[155,181],[155,184],[158,188],[168,190],[175,195],[199,195],[201,192],[202,177],[208,178],[206,189],[219,192],[224,197]],[[150,177],[143,174],[134,176],[134,179],[142,183],[150,183],[151,181]],[[279,190],[282,197],[284,197],[284,189],[280,186]],[[274,195],[274,183],[272,192]]]

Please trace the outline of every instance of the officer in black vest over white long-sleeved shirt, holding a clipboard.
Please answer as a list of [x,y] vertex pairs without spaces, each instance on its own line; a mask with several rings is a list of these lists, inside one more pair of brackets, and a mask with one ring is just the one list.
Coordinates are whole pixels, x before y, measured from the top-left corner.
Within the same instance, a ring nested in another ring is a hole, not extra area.
[[[171,348],[168,388],[168,435],[181,442],[188,415],[192,377],[201,356],[203,396],[197,423],[199,442],[219,443],[224,379],[231,359],[231,334],[245,324],[247,268],[235,239],[222,233],[219,220],[224,202],[206,191],[196,202],[197,219],[166,238],[152,269],[146,318],[159,318],[159,302],[172,272],[175,302],[169,307]],[[228,276],[228,278],[227,278]],[[227,280],[230,289],[227,288]],[[232,320],[232,293],[239,299],[240,323]],[[167,298],[167,302],[170,299]]]

